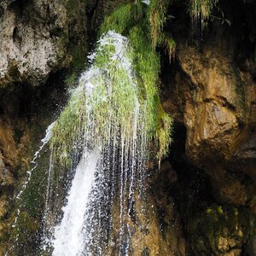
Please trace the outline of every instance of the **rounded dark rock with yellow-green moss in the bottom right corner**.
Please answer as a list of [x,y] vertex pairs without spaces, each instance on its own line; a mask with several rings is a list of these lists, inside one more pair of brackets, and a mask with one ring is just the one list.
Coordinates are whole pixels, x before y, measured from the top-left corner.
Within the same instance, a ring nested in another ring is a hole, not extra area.
[[[212,205],[198,216],[195,223],[191,230],[194,252],[200,255],[207,255],[209,252],[218,255],[228,253],[233,248],[241,248],[247,241],[250,214],[247,208]],[[225,247],[221,240],[226,241]]]

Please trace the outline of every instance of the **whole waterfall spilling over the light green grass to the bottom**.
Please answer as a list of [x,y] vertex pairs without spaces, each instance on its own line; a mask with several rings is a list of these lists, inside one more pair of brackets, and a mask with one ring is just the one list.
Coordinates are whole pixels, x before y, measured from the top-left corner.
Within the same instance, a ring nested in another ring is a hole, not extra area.
[[103,35],[89,59],[50,140],[42,249],[55,256],[129,255],[135,219],[147,230],[157,90],[147,96],[139,86],[133,49],[119,33]]

